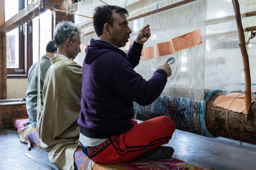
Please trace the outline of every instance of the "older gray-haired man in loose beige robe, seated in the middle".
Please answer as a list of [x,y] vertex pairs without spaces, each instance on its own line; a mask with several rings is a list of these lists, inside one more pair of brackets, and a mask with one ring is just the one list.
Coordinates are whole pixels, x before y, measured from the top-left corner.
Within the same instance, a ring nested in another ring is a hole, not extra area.
[[45,76],[44,106],[38,117],[40,146],[61,169],[74,169],[74,152],[79,146],[77,125],[81,109],[82,67],[72,61],[81,52],[79,28],[60,22],[54,32],[57,53]]

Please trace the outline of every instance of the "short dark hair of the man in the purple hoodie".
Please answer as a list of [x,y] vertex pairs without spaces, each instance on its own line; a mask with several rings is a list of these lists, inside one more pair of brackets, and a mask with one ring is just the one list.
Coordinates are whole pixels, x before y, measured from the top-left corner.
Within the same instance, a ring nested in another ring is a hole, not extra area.
[[93,13],[93,27],[97,36],[103,34],[104,24],[108,23],[113,27],[112,13],[124,13],[128,16],[128,11],[120,6],[113,6],[105,4],[103,6],[97,6]]

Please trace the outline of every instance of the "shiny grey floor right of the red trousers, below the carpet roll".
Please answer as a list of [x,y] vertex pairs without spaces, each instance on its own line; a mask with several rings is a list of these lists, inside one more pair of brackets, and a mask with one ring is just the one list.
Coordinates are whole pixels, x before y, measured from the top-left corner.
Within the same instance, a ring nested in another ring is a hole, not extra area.
[[256,169],[256,145],[227,138],[207,138],[175,130],[168,143],[173,157],[214,169]]

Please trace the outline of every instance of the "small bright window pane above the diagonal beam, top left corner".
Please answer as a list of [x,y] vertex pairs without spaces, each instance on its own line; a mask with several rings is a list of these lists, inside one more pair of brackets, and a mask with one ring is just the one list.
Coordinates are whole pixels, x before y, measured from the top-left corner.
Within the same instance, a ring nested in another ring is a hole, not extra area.
[[4,18],[5,21],[7,21],[19,12],[19,0],[6,0],[4,1],[4,4]]

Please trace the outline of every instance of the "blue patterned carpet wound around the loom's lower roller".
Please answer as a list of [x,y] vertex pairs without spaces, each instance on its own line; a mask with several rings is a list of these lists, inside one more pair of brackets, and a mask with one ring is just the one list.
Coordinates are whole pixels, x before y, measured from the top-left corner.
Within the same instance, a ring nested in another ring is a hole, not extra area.
[[[221,90],[205,90],[205,100]],[[166,115],[175,122],[175,128],[213,138],[205,126],[205,103],[180,97],[160,96],[148,106],[134,103],[134,114],[138,120]]]

